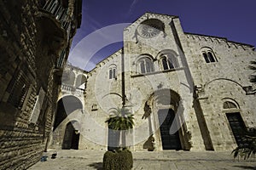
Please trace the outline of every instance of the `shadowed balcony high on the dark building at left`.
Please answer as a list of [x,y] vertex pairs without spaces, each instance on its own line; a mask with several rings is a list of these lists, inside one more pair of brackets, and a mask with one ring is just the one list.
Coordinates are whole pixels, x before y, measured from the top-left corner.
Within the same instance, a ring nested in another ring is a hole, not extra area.
[[40,1],[38,6],[38,39],[43,40],[41,45],[48,48],[48,54],[59,55],[61,49],[68,45],[73,14],[69,14],[68,8],[58,0]]

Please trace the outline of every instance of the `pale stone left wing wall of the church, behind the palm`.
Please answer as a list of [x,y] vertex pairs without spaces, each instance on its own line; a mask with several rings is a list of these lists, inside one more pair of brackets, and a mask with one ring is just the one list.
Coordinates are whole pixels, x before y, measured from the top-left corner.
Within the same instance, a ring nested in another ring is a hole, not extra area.
[[[122,106],[122,50],[102,60],[89,72],[84,94],[84,115],[81,119],[79,149],[107,150],[109,114]],[[109,70],[115,69],[115,77]]]

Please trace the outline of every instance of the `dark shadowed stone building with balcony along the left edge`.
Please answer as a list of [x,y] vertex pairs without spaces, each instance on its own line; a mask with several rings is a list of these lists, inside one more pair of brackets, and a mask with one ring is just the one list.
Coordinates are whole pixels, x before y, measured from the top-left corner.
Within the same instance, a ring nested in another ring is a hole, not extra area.
[[26,169],[46,148],[81,3],[0,2],[1,169]]

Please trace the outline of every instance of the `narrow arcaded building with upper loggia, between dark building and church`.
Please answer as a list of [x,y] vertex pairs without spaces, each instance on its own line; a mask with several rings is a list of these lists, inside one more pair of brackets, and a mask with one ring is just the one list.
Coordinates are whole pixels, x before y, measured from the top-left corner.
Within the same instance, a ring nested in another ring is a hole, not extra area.
[[65,66],[49,148],[79,149],[79,120],[83,114],[86,81],[86,71],[70,64]]

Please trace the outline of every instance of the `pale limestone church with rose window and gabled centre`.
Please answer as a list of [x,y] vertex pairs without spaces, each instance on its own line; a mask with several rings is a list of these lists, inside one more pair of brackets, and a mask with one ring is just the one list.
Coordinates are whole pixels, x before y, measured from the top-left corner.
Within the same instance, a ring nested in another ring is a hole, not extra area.
[[124,47],[88,72],[83,112],[69,120],[79,124],[79,149],[118,146],[106,120],[122,106],[135,117],[131,150],[234,149],[240,129],[256,123],[254,59],[251,45],[183,32],[177,16],[143,14],[125,28]]

